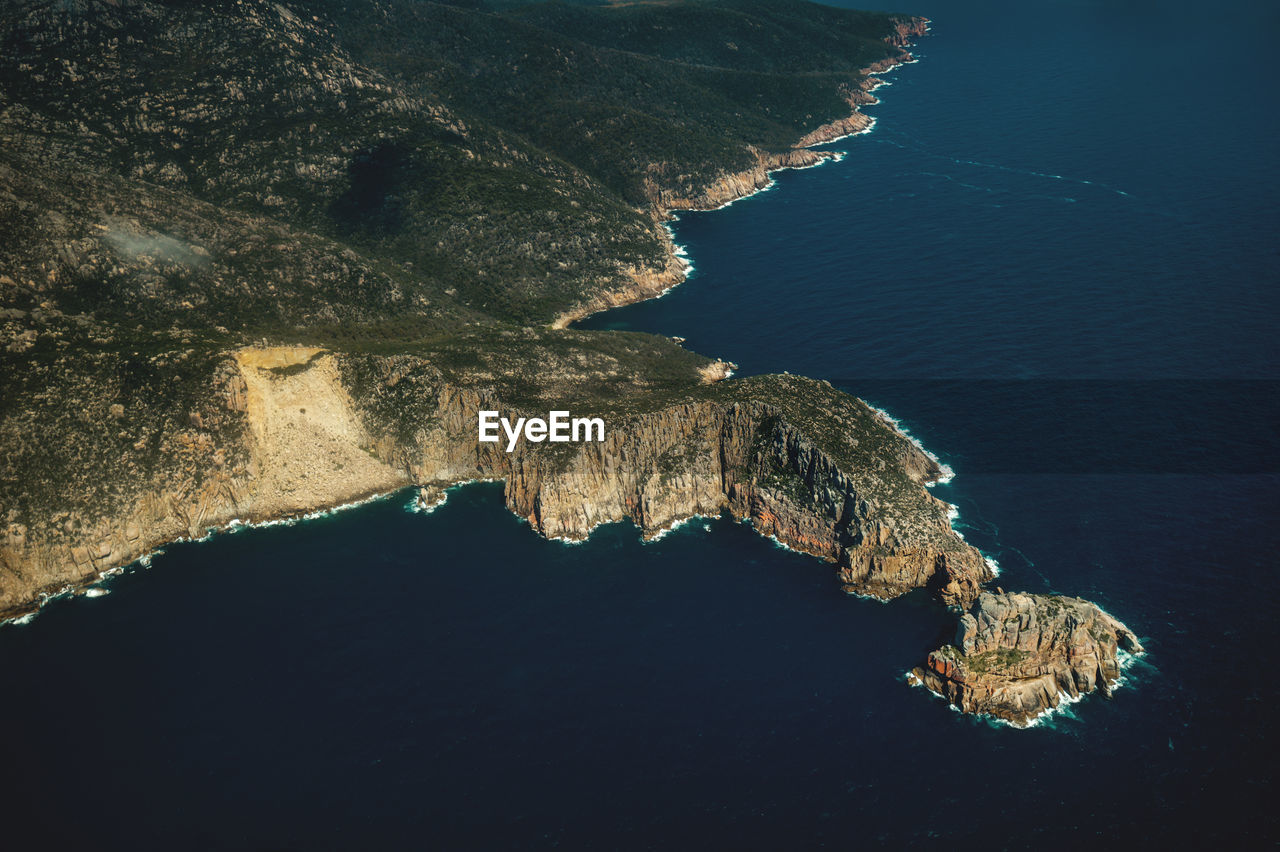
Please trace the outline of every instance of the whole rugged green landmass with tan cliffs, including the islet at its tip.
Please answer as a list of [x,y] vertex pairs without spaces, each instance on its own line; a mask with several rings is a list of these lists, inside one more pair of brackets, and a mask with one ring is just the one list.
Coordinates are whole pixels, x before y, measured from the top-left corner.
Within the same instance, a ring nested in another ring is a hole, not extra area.
[[[728,512],[972,610],[914,678],[1025,724],[1135,637],[993,578],[861,400],[573,320],[664,221],[835,156],[927,22],[803,0],[68,0],[0,17],[0,617],[180,537],[500,478],[582,539]],[[728,353],[726,353],[728,354]],[[573,412],[599,440],[479,440]],[[1014,622],[1016,620],[1016,629]]]

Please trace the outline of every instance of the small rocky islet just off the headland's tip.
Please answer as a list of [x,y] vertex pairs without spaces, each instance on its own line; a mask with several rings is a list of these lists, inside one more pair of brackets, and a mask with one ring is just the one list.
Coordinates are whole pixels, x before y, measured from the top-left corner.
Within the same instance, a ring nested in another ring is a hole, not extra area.
[[1066,698],[1111,693],[1133,631],[1079,597],[988,592],[913,677],[965,713],[1027,725]]

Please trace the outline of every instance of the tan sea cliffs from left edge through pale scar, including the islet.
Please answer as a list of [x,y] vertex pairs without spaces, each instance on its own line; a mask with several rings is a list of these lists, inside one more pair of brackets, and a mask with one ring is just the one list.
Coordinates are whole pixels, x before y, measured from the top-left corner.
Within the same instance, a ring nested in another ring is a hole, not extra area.
[[[209,404],[152,438],[177,449],[123,484],[132,487],[118,500],[26,522],[10,513],[0,615],[31,611],[47,595],[233,521],[297,516],[406,485],[434,503],[451,485],[500,478],[508,508],[549,537],[581,540],[623,519],[650,537],[728,512],[833,563],[846,592],[890,599],[928,588],[972,606],[955,645],[913,673],[965,713],[1027,724],[1065,698],[1107,693],[1119,650],[1140,652],[1124,624],[1087,601],[982,591],[989,567],[925,489],[941,475],[937,462],[863,402],[796,376],[723,380],[722,362],[685,359],[669,342],[654,343],[675,358],[662,388],[640,377],[626,385],[626,362],[588,363],[584,347],[598,339],[618,336],[513,334],[493,356],[507,365],[500,375],[488,363],[449,366],[457,353],[447,347],[431,357],[314,347],[232,353],[209,377]],[[623,347],[637,356],[644,340]],[[604,440],[520,440],[512,452],[479,440],[483,409],[511,421],[545,416],[550,399],[599,383],[612,388],[611,402],[593,391],[575,414],[602,417]]]

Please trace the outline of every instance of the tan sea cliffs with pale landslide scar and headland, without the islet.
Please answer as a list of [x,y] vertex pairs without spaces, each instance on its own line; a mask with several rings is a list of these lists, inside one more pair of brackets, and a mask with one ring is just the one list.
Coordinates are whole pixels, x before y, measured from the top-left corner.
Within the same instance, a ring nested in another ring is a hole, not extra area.
[[[572,383],[581,379],[576,361],[543,357],[541,368]],[[668,402],[600,409],[604,441],[521,441],[507,453],[477,440],[480,409],[512,418],[540,412],[511,404],[500,389],[458,383],[435,363],[314,347],[234,353],[211,376],[220,411],[195,412],[166,439],[195,454],[173,457],[118,504],[10,526],[0,546],[8,578],[0,614],[29,611],[42,596],[95,582],[179,537],[407,485],[430,501],[475,478],[504,480],[508,508],[549,537],[581,540],[623,519],[653,536],[728,512],[835,563],[851,594],[887,599],[927,587],[966,605],[991,578],[982,555],[951,531],[948,507],[924,487],[941,475],[937,463],[824,383],[708,383],[714,362],[690,365]],[[215,421],[225,422],[215,430]]]

